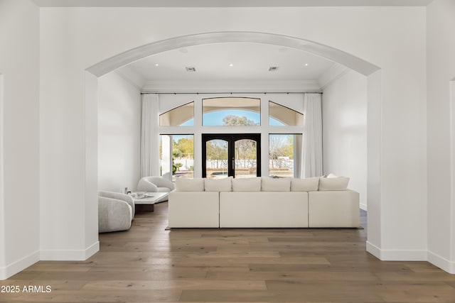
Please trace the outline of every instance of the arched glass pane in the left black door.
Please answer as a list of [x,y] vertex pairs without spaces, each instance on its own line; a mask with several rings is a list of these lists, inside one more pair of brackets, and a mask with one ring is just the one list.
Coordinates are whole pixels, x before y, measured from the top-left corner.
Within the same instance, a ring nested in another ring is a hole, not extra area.
[[210,140],[206,143],[205,175],[207,178],[228,177],[228,141]]

